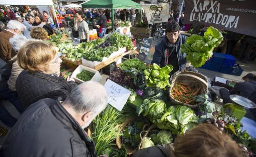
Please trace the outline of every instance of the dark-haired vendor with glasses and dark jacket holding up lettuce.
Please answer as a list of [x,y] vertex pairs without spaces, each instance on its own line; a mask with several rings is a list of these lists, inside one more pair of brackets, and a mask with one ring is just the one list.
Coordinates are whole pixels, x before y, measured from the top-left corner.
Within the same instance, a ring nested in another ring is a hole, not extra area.
[[185,44],[187,36],[180,34],[180,26],[176,21],[171,21],[166,26],[165,36],[155,46],[155,53],[151,64],[160,67],[171,64],[174,69],[169,75],[185,69],[187,63],[186,53],[181,52],[181,44]]

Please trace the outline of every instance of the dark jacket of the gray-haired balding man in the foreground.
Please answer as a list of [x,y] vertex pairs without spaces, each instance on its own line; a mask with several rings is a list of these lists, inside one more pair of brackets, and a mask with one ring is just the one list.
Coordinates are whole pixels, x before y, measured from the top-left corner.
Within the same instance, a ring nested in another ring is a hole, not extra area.
[[5,139],[2,153],[4,157],[96,157],[94,143],[53,99],[27,108]]

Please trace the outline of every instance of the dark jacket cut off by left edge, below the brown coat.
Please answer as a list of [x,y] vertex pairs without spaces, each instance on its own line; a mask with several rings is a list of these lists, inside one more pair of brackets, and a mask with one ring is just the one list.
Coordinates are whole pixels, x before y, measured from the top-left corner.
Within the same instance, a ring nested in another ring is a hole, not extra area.
[[7,63],[0,58],[0,89],[3,89],[7,85],[7,80],[11,75],[11,69]]

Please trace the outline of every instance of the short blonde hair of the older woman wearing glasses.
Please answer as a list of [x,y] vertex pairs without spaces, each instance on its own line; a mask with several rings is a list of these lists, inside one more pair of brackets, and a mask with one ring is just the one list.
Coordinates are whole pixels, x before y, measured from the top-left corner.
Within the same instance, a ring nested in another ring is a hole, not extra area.
[[37,72],[37,66],[48,64],[56,56],[57,51],[51,43],[29,41],[17,53],[19,66],[31,72]]

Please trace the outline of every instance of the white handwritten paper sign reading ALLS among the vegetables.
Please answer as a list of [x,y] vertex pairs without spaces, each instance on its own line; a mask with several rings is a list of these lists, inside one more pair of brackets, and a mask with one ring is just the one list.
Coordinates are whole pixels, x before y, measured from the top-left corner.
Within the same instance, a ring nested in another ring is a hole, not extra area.
[[108,95],[107,103],[121,111],[123,106],[126,104],[131,91],[123,88],[111,80],[107,80],[104,88],[106,89]]

